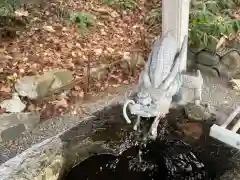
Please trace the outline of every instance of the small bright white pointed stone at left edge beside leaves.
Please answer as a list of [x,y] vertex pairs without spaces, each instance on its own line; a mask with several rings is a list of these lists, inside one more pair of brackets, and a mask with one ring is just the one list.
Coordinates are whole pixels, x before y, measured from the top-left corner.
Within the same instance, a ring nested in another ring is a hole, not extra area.
[[26,105],[22,103],[17,93],[13,93],[12,99],[4,100],[0,103],[0,107],[7,112],[17,113],[22,112],[26,108]]

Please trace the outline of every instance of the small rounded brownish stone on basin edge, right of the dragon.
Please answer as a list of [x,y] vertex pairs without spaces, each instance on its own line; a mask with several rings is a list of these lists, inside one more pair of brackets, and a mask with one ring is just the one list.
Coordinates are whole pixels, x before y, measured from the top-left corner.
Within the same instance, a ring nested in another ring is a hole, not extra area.
[[208,105],[196,105],[188,103],[184,106],[184,111],[189,120],[205,121],[213,117],[214,110]]

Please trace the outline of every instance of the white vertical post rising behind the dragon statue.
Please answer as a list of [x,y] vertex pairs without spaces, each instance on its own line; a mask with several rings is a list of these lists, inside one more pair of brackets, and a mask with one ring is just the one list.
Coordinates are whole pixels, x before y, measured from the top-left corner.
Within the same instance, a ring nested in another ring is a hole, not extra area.
[[[178,41],[179,48],[185,35],[188,35],[190,0],[163,0],[162,1],[162,33],[172,30]],[[187,66],[187,51],[184,52],[182,69]]]

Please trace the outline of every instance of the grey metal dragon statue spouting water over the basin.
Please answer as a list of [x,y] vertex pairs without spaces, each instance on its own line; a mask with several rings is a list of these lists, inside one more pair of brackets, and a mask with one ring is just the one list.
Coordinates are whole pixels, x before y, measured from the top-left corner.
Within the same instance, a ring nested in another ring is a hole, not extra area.
[[196,75],[190,75],[181,69],[185,61],[183,56],[187,50],[187,41],[185,36],[179,49],[171,31],[158,38],[139,76],[138,85],[123,105],[127,123],[131,124],[127,108],[137,116],[134,130],[139,128],[142,117],[155,117],[148,133],[150,139],[156,139],[160,119],[168,114],[172,104],[181,102],[184,87],[194,89],[194,103],[200,105],[203,85],[200,71],[197,70]]

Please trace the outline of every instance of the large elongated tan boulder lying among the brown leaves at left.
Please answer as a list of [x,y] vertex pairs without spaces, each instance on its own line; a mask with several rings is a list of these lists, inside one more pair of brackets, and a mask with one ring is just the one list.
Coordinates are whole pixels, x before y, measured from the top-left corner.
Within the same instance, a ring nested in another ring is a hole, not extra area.
[[54,69],[43,75],[25,76],[15,84],[15,89],[21,96],[37,99],[67,85],[73,79],[72,72]]

